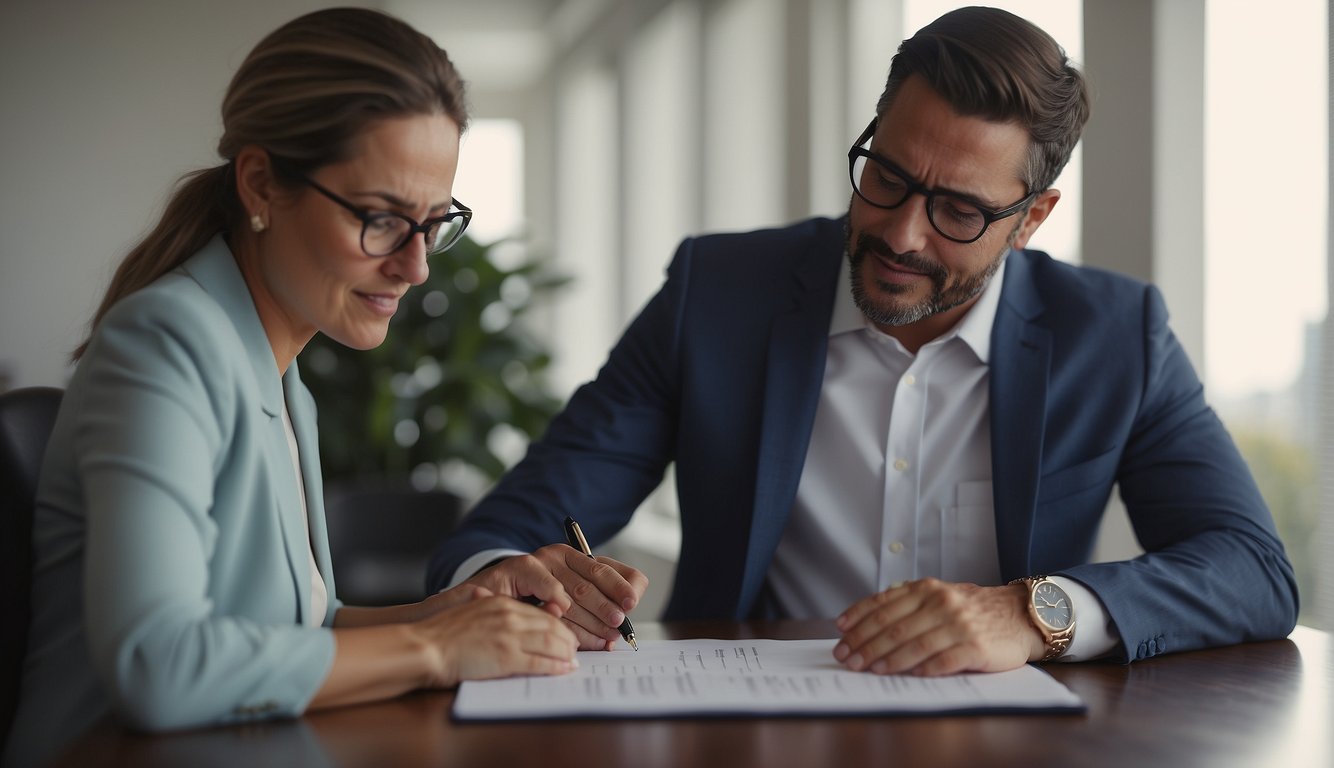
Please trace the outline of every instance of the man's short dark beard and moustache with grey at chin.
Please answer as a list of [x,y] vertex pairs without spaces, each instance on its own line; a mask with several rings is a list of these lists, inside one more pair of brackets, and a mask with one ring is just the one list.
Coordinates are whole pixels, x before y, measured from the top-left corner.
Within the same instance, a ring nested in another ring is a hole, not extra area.
[[[946,287],[946,281],[950,279],[950,273],[940,264],[927,260],[918,253],[894,253],[884,241],[867,235],[859,236],[854,247],[851,223],[844,225],[844,232],[847,259],[852,268],[852,301],[856,303],[856,308],[876,325],[908,325],[924,320],[931,315],[952,309],[982,293],[987,283],[991,281],[991,277],[1000,268],[1002,261],[1005,261],[1005,256],[1010,251],[1010,244],[1014,243],[1014,237],[1018,233],[1018,227],[1006,237],[1006,244],[996,253],[995,259],[980,271],[964,275],[948,288]],[[931,295],[915,304],[903,304],[894,301],[892,295],[906,293],[912,289],[911,285],[896,285],[876,280],[875,287],[880,292],[891,295],[891,297],[872,299],[866,289],[862,276],[862,264],[872,253],[884,257],[898,267],[924,275],[931,281]]]

